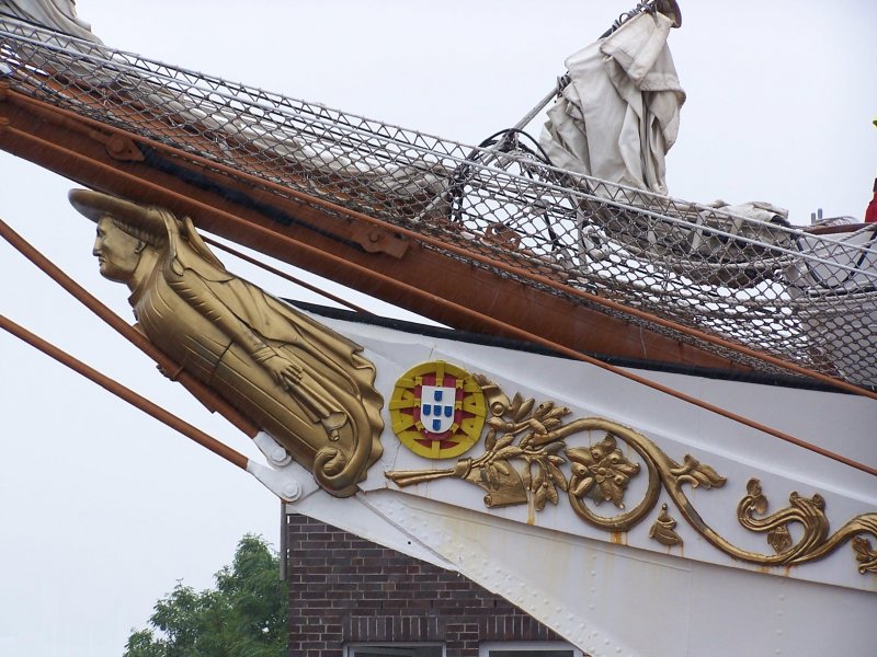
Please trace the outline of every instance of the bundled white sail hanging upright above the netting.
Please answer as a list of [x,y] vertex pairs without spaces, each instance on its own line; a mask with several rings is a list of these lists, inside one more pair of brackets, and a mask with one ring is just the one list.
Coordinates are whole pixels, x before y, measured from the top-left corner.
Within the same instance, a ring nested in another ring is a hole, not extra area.
[[667,194],[664,155],[685,102],[667,45],[672,26],[640,13],[567,59],[571,81],[540,140],[555,165]]

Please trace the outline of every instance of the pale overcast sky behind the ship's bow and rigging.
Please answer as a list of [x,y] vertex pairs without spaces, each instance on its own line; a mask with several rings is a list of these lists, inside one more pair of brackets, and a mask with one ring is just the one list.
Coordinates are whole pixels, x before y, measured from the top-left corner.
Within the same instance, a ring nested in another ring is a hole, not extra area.
[[[477,143],[516,123],[565,58],[634,4],[79,0],[78,10],[110,46]],[[820,207],[861,219],[877,175],[877,3],[682,10],[670,46],[687,102],[670,194],[768,200],[796,223]],[[130,318],[126,289],[98,275],[94,226],[68,205],[71,186],[0,152],[0,218]],[[0,313],[257,454],[4,243],[0,268]],[[4,333],[0,355],[0,655],[121,655],[160,596],[180,579],[209,586],[243,533],[278,544],[280,504],[249,475]]]

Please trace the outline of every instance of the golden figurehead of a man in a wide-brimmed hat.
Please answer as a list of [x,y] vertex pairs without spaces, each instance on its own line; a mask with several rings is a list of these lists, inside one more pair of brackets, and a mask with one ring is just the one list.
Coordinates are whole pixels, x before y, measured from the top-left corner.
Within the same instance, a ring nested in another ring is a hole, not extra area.
[[352,495],[384,427],[362,347],[230,274],[189,217],[87,189],[69,198],[96,222],[101,274],[128,286],[139,331],[326,491]]

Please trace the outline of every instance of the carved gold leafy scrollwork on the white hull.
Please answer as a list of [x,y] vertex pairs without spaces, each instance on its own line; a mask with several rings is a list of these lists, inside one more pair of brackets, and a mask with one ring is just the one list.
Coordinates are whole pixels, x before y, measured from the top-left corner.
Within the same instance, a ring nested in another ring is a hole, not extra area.
[[[745,529],[766,533],[774,554],[742,550],[713,530],[685,495],[685,487],[708,489],[725,485],[725,477],[709,465],[691,454],[685,454],[679,463],[638,431],[608,419],[586,417],[565,424],[562,417],[570,413],[569,408],[554,402],[536,405],[534,400],[520,394],[510,402],[496,384],[483,377],[476,379],[486,396],[488,390],[492,395],[485,453],[460,459],[454,468],[443,470],[387,472],[389,480],[405,487],[445,477],[462,479],[487,492],[488,507],[531,504],[536,511],[546,503],[557,505],[560,493],[566,493],[583,521],[612,532],[628,531],[640,522],[652,511],[663,489],[692,528],[733,558],[765,566],[795,565],[822,558],[851,541],[859,572],[877,573],[877,552],[870,541],[859,535],[877,537],[877,514],[857,516],[829,535],[825,504],[820,495],[808,499],[793,493],[788,508],[761,517],[767,509],[767,500],[759,482],[752,480],[738,505],[738,519]],[[569,437],[590,431],[602,437],[588,447],[567,445]],[[618,440],[639,454],[648,477],[642,499],[629,509],[625,499],[627,485],[640,474],[641,466],[624,456]],[[565,473],[567,469],[569,475]],[[622,512],[607,516],[591,508],[602,503],[611,503]],[[793,543],[791,523],[802,528],[797,543]],[[664,545],[681,544],[675,525],[664,504],[650,537]]]

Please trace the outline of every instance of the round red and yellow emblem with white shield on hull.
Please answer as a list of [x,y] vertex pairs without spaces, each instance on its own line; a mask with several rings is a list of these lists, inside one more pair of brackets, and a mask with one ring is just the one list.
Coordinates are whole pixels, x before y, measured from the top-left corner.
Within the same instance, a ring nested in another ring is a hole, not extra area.
[[402,374],[389,405],[392,430],[412,452],[451,459],[481,437],[487,408],[481,387],[466,370],[443,360]]

